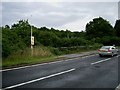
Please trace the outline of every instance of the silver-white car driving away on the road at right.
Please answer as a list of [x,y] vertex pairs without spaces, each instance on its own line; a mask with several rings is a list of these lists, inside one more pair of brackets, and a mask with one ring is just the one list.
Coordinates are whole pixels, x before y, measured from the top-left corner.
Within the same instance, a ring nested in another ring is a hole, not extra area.
[[102,46],[98,53],[100,57],[105,55],[114,56],[118,54],[118,49],[115,46]]

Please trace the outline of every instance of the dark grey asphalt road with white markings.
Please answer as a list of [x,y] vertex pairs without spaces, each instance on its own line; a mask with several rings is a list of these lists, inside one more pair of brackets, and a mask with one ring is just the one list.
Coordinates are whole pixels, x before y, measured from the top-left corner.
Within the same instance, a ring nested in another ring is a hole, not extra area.
[[119,84],[119,55],[97,54],[40,65],[4,70],[3,89],[113,88]]

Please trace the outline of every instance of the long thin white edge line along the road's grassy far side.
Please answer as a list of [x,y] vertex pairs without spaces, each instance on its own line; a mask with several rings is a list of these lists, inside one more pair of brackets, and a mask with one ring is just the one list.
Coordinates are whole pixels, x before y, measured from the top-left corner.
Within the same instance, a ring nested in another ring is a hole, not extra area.
[[[96,55],[97,54],[90,55],[90,56],[87,56],[87,57],[92,57],[92,56],[96,56]],[[85,56],[85,57],[82,57],[82,58],[87,58],[87,57]],[[29,65],[29,66],[22,66],[22,67],[11,68],[11,69],[4,69],[4,70],[0,70],[0,72],[10,71],[10,70],[17,70],[17,69],[24,69],[24,68],[29,68],[29,67],[36,67],[36,66],[41,66],[41,65],[46,65],[46,64],[52,64],[52,63],[58,63],[58,62],[63,62],[63,61],[70,61],[70,60],[79,59],[79,58],[80,57],[76,57],[76,58],[67,59],[67,60],[60,60],[60,61],[54,61],[54,62],[49,62],[49,63],[42,63],[42,64],[35,64],[35,65]]]

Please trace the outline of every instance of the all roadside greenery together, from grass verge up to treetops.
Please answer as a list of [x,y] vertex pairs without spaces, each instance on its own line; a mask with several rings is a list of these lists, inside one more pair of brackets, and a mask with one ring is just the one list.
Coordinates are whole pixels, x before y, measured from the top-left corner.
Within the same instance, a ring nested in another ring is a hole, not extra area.
[[102,17],[94,18],[81,32],[35,26],[32,29],[35,37],[33,54],[28,20],[2,27],[3,68],[49,62],[60,55],[96,50],[102,45],[120,46],[120,20],[113,27]]

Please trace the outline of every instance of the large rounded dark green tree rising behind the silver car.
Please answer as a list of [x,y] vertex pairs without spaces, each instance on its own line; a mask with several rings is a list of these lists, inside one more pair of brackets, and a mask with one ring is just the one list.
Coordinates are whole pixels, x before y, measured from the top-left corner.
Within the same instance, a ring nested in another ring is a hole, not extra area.
[[89,39],[103,36],[114,36],[115,30],[112,25],[102,17],[94,18],[86,25],[86,36]]

